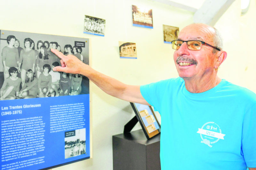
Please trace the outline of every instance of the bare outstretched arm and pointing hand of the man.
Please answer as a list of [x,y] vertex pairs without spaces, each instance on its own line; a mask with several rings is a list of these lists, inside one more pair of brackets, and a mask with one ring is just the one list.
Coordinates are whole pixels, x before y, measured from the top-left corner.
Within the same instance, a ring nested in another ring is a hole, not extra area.
[[84,64],[74,55],[66,56],[56,49],[51,49],[51,51],[61,59],[61,66],[54,67],[53,71],[82,74],[111,96],[130,102],[149,105],[140,93],[140,86],[126,85],[114,78],[93,70],[89,65]]

